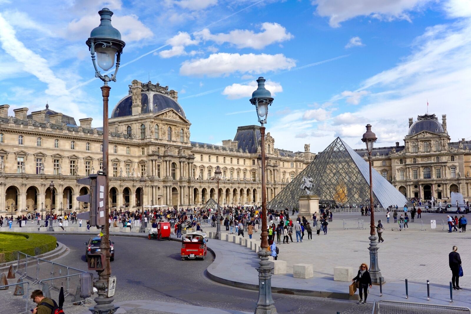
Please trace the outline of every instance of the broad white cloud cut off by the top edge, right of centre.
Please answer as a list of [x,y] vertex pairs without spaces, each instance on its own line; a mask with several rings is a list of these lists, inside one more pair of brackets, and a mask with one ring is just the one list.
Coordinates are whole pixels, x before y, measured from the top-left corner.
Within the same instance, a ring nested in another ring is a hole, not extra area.
[[404,19],[410,21],[408,12],[433,0],[312,0],[319,16],[329,17],[332,27],[356,16],[378,19]]

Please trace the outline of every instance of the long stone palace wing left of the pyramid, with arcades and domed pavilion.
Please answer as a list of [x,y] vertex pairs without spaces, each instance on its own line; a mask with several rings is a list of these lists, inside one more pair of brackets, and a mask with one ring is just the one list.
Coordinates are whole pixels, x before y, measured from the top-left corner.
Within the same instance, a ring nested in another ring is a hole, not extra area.
[[[87,194],[88,187],[76,180],[101,170],[102,128],[92,128],[91,118],[77,124],[53,109],[46,105],[28,113],[28,108],[16,108],[8,116],[9,105],[0,105],[0,215],[50,212],[51,205],[55,212],[87,208],[76,197]],[[234,140],[219,146],[190,139],[190,126],[176,91],[150,81],[131,82],[129,95],[109,119],[111,208],[135,210],[141,193],[143,205],[194,207],[217,195],[221,205],[260,204],[260,127],[238,127]],[[277,149],[270,133],[265,145],[269,201],[316,155],[309,145],[296,153]]]

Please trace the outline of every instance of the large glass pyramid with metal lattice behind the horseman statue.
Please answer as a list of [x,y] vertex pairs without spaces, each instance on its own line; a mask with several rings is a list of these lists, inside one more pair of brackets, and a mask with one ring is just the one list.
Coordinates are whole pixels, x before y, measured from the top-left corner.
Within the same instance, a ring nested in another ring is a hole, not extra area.
[[[313,178],[311,194],[320,197],[320,205],[361,207],[370,204],[370,172],[368,162],[340,137],[319,153],[276,197],[268,203],[271,209],[298,208],[302,177]],[[373,202],[379,207],[399,207],[406,198],[377,171],[373,171]]]

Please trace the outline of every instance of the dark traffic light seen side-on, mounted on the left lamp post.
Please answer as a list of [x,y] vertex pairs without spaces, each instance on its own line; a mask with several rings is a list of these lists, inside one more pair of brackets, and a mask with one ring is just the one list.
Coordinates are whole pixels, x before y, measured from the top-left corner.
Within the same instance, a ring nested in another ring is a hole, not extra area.
[[[106,175],[91,174],[89,177],[78,179],[78,184],[89,185],[90,193],[86,195],[77,196],[77,201],[89,203],[89,212],[79,214],[78,218],[89,219],[90,225],[105,225],[108,217],[105,217],[105,182]],[[85,217],[89,214],[89,217]]]

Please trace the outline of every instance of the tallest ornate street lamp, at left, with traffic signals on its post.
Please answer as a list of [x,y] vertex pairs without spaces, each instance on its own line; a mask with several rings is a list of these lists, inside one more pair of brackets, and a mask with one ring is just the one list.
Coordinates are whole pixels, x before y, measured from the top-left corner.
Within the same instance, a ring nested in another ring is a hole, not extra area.
[[[106,289],[108,286],[108,278],[111,275],[110,266],[110,243],[109,243],[109,204],[108,204],[108,97],[110,96],[110,87],[108,86],[109,81],[116,81],[116,74],[119,69],[122,48],[124,48],[124,41],[121,40],[121,33],[111,25],[111,12],[108,8],[103,8],[98,11],[100,15],[100,25],[94,28],[90,32],[90,37],[86,41],[87,46],[90,49],[91,59],[93,66],[95,67],[95,77],[100,78],[103,81],[101,87],[101,94],[103,97],[103,171],[102,174],[106,175],[105,186],[104,186],[104,199],[106,200],[105,206],[105,217],[106,223],[102,228],[103,236],[100,244],[100,249],[105,252],[105,269],[98,271],[99,279],[94,283],[95,288],[98,290],[98,297],[95,298],[96,306],[89,310],[93,314],[113,314],[119,308],[114,306],[113,297],[106,297]],[[96,57],[96,59],[95,59]],[[114,58],[116,57],[116,64]],[[115,66],[114,73],[111,77],[108,75],[102,75],[98,70],[97,65],[108,71]]]

